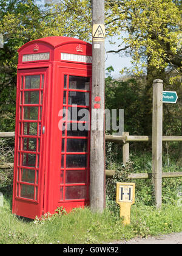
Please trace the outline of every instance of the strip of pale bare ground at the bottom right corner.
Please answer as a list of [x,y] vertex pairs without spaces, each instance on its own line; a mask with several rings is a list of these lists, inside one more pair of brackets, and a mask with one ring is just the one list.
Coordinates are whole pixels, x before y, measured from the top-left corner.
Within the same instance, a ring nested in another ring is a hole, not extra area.
[[170,235],[152,236],[149,238],[133,238],[130,241],[117,241],[117,244],[182,244],[182,232]]

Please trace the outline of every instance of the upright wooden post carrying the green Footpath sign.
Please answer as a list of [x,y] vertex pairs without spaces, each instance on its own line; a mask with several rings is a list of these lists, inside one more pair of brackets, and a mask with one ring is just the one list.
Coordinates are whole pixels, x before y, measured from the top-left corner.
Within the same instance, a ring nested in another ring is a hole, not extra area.
[[163,80],[153,80],[152,181],[156,207],[162,204]]

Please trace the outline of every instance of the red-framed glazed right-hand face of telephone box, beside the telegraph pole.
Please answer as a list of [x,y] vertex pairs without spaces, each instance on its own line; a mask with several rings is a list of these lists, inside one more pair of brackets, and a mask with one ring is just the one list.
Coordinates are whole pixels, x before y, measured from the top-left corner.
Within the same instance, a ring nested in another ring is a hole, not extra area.
[[89,205],[91,71],[65,68],[60,73],[64,96],[59,204],[69,211]]

